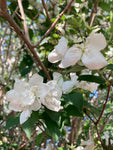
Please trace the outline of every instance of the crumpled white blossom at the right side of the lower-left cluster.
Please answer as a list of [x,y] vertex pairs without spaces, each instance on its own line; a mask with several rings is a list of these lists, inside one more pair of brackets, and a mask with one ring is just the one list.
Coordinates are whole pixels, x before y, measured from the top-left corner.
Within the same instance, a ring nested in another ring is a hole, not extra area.
[[49,85],[49,92],[46,95],[44,99],[42,99],[42,104],[45,105],[48,109],[53,111],[59,111],[62,109],[61,106],[61,96],[62,96],[62,90],[58,86],[57,81],[51,80],[47,82],[47,85]]

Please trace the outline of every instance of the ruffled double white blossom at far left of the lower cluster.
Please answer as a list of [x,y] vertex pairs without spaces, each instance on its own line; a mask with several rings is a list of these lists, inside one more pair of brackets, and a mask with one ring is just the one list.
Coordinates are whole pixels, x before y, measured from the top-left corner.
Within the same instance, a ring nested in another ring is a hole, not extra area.
[[23,111],[25,107],[34,103],[35,96],[27,82],[18,80],[14,89],[7,92],[6,99],[10,102],[9,109]]

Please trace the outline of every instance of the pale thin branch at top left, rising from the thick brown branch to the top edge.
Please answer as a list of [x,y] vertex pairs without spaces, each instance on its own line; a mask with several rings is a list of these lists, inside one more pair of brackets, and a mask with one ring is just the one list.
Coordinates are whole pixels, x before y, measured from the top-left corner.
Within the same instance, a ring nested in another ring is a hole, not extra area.
[[22,6],[22,0],[18,0],[18,5],[19,5],[19,8],[20,8],[22,20],[24,22],[25,36],[28,39],[28,41],[30,42],[27,23],[26,23],[26,18],[25,18],[25,13],[24,13],[24,9],[23,9],[23,6]]

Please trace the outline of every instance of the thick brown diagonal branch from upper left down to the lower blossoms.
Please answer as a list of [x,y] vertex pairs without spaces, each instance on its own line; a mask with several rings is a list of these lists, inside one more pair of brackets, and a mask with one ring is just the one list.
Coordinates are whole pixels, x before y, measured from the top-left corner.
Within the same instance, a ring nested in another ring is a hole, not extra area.
[[50,76],[48,74],[48,71],[46,70],[44,64],[41,62],[41,60],[40,60],[39,56],[37,55],[36,51],[32,47],[31,43],[28,41],[26,36],[23,34],[23,32],[21,31],[19,26],[16,24],[16,22],[13,20],[13,18],[8,14],[8,12],[5,12],[5,13],[3,12],[3,17],[9,22],[9,24],[14,28],[15,32],[21,37],[21,39],[28,46],[28,48],[30,49],[30,51],[33,54],[33,56],[36,58],[36,60],[38,61],[39,65],[42,67],[45,75],[50,80],[51,78],[50,78]]

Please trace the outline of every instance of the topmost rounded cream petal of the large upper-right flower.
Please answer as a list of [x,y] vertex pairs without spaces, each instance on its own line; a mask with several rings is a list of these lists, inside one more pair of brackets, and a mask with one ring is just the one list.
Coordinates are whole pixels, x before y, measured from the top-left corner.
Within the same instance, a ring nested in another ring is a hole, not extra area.
[[100,51],[106,47],[106,39],[102,33],[92,32],[86,39],[86,46],[88,49],[95,49],[95,51]]

